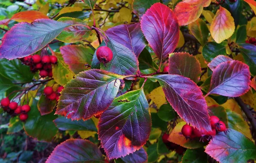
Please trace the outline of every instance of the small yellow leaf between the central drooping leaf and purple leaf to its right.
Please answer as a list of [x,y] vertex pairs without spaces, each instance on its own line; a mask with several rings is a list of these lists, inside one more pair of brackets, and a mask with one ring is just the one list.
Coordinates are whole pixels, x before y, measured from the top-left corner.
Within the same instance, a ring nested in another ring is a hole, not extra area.
[[155,88],[150,94],[149,97],[155,103],[155,105],[160,108],[164,103],[166,103],[165,93],[162,87]]

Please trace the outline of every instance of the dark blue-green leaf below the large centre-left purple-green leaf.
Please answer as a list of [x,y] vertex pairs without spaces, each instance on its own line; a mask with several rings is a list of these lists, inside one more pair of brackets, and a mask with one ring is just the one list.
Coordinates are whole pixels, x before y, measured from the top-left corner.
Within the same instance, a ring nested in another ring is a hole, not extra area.
[[92,119],[71,121],[68,118],[59,117],[54,120],[54,123],[59,130],[98,131]]

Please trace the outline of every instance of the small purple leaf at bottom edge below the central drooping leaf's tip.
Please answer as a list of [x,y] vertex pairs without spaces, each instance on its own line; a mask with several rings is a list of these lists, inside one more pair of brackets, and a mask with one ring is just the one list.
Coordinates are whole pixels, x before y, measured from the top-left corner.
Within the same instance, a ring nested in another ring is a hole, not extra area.
[[140,148],[132,154],[128,154],[125,157],[121,157],[125,163],[145,163],[148,160],[148,155],[144,148]]

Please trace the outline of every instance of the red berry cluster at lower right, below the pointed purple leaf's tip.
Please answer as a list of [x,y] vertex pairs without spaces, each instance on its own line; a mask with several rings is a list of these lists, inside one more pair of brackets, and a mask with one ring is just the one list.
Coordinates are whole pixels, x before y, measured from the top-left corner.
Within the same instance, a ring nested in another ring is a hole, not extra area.
[[181,133],[183,134],[183,136],[186,137],[186,139],[200,138],[200,140],[204,141],[212,139],[213,136],[216,135],[216,132],[222,132],[227,130],[224,122],[220,121],[219,118],[216,116],[210,117],[210,125],[212,130],[205,131],[198,130],[197,128],[193,128],[188,124],[185,124],[181,129]]

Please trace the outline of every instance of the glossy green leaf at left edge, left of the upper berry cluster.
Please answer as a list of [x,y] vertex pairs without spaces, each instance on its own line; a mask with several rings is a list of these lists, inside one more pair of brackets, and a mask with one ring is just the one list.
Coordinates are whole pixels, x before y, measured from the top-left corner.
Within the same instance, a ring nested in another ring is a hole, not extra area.
[[32,82],[34,74],[29,66],[23,65],[20,60],[0,59],[0,73],[15,82]]

